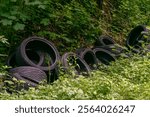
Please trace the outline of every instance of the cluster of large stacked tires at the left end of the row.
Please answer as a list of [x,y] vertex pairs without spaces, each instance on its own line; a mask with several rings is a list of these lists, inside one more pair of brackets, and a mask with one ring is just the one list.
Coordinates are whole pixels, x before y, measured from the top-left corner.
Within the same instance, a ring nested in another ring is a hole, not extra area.
[[36,86],[42,80],[48,83],[57,79],[57,65],[60,55],[57,48],[47,39],[30,37],[13,52],[7,65],[11,76],[24,80],[29,86]]

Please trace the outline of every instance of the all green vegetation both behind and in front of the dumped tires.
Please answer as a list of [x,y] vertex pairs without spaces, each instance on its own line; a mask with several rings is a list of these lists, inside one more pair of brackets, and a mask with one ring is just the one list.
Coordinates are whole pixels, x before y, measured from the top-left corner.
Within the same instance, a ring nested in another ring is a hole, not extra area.
[[102,66],[86,78],[61,74],[52,85],[7,93],[3,88],[5,61],[20,42],[42,36],[60,53],[91,47],[101,34],[124,45],[136,25],[150,25],[149,0],[1,0],[0,1],[0,99],[150,99],[149,55],[120,59]]

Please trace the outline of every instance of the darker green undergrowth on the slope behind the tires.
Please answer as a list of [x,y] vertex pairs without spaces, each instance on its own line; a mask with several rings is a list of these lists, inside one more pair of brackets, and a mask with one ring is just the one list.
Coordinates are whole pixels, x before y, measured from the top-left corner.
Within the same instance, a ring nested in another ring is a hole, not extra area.
[[103,0],[102,9],[97,1],[1,0],[0,35],[10,43],[7,54],[33,35],[52,40],[60,52],[91,46],[101,34],[123,45],[131,28],[150,25],[149,0]]

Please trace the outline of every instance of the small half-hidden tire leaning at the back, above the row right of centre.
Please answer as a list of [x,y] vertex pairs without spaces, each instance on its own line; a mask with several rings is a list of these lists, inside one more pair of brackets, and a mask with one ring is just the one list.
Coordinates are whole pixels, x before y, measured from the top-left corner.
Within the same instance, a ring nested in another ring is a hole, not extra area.
[[101,35],[98,39],[96,39],[94,46],[105,46],[115,44],[115,41],[106,35]]

